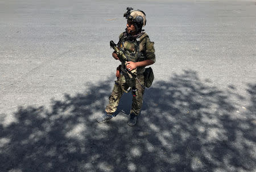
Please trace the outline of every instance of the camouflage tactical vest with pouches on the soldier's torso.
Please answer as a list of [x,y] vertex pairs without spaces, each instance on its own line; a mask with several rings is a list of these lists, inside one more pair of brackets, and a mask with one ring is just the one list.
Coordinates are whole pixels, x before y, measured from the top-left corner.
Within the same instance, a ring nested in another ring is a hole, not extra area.
[[[128,61],[141,62],[145,60],[145,50],[143,45],[141,45],[141,42],[146,37],[148,37],[146,33],[142,33],[137,38],[129,38],[125,32],[121,35],[118,45],[126,55]],[[125,64],[122,64],[122,71],[124,68]],[[142,74],[144,70],[144,67],[137,67],[137,74]]]

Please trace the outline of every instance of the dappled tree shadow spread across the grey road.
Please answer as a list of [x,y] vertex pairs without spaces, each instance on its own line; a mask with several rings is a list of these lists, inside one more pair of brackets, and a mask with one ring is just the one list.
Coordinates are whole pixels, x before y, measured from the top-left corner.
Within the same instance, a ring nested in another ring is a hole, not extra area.
[[[254,171],[255,84],[250,105],[239,109],[236,88],[220,90],[184,71],[145,92],[134,127],[121,112],[96,122],[112,87],[98,85],[50,109],[20,107],[15,122],[1,123],[1,171]],[[130,100],[124,95],[118,112]]]

